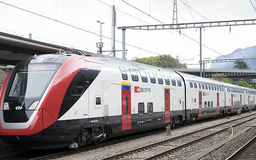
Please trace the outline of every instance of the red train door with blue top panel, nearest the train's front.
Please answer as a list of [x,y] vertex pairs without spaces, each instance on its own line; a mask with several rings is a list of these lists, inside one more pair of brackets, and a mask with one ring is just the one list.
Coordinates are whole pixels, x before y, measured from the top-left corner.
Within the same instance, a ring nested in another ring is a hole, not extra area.
[[122,131],[131,129],[131,86],[122,85]]

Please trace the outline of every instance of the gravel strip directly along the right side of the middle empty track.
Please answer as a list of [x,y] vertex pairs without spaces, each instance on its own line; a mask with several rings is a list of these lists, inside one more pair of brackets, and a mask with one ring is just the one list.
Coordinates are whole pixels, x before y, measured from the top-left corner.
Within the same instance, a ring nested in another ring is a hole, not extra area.
[[[256,124],[256,119],[254,119],[253,121],[250,121],[250,122],[246,122],[242,125],[236,126],[233,128],[233,135],[236,134],[237,132],[243,130],[244,128],[246,128],[246,125],[255,125],[255,124]],[[220,134],[212,136],[206,140],[200,141],[196,144],[193,144],[188,147],[184,147],[180,150],[177,150],[175,152],[172,152],[165,157],[159,158],[158,160],[187,160],[190,157],[196,155],[197,153],[204,151],[207,148],[217,144],[218,142],[228,138],[229,136],[230,135],[229,135],[228,131],[221,132]],[[186,154],[184,154],[184,153],[186,153]],[[214,156],[214,154],[211,156]],[[211,156],[209,156],[208,160],[213,160],[213,157],[211,157]],[[206,160],[206,159],[202,159],[202,160]],[[220,159],[220,160],[222,160],[222,159]]]

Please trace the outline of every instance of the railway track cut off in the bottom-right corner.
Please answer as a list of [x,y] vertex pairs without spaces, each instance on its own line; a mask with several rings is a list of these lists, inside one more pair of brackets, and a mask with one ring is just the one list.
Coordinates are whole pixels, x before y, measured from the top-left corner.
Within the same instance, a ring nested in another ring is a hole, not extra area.
[[239,148],[226,160],[256,160],[256,136]]

